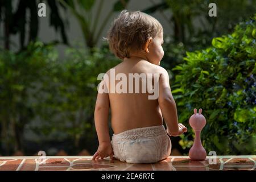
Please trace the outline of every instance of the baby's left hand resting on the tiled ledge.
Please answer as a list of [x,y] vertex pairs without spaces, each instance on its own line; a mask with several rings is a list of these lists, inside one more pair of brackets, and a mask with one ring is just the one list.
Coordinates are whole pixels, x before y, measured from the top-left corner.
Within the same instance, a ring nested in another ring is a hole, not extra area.
[[114,152],[111,143],[100,143],[97,152],[95,152],[95,154],[93,155],[92,160],[100,158],[104,159],[107,158],[108,156],[110,156],[110,159],[113,160],[113,155]]

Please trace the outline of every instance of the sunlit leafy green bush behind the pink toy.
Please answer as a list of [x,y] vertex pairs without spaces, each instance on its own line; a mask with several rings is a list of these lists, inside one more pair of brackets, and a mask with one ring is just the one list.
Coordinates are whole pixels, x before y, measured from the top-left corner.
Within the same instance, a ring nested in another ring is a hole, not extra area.
[[[230,35],[212,40],[212,47],[187,52],[172,93],[179,121],[187,123],[194,108],[202,108],[207,125],[203,146],[217,155],[256,152],[256,15],[240,23]],[[193,131],[181,136],[183,148],[191,146]]]

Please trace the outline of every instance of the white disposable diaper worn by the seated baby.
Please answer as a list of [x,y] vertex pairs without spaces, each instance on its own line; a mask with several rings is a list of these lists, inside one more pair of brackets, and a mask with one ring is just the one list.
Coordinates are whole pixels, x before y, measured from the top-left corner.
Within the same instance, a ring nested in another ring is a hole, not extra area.
[[113,134],[114,158],[127,163],[156,163],[171,153],[164,126],[142,127]]

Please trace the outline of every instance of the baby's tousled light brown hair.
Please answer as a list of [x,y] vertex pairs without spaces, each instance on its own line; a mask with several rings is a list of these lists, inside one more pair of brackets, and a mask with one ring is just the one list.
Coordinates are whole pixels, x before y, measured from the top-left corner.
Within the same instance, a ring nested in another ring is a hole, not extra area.
[[132,51],[144,49],[147,39],[163,33],[162,25],[154,17],[141,11],[123,10],[114,20],[108,36],[109,49],[120,59],[129,58]]

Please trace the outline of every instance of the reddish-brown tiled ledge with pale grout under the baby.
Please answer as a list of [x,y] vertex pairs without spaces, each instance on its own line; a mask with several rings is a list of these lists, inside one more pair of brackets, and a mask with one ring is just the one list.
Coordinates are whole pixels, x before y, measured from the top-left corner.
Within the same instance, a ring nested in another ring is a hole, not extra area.
[[256,156],[217,156],[216,163],[209,156],[204,161],[192,161],[188,156],[169,156],[154,164],[129,164],[119,160],[92,161],[92,156],[20,156],[0,157],[0,171],[42,171],[42,170],[255,170]]

